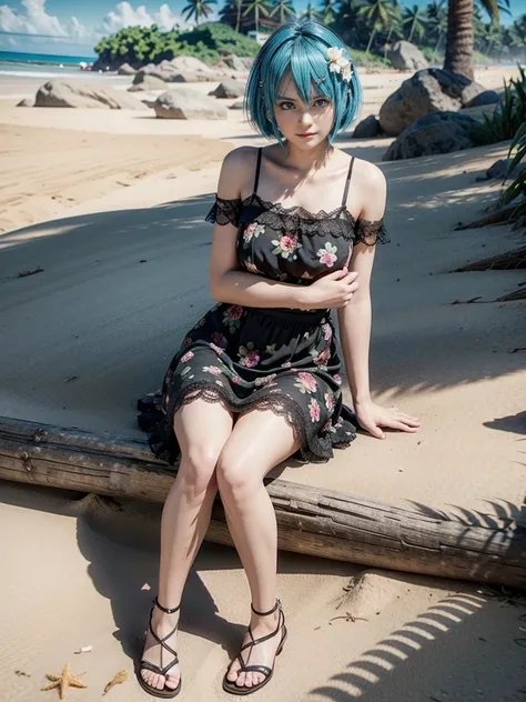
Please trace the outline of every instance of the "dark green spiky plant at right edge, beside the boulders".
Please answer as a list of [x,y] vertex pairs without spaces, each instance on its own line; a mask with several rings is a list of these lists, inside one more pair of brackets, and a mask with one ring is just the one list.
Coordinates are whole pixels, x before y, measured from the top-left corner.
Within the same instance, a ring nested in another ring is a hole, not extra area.
[[484,116],[483,122],[475,127],[471,138],[478,146],[497,143],[513,139],[519,127],[526,121],[526,71],[518,67],[520,78],[504,83],[504,96],[495,112]]

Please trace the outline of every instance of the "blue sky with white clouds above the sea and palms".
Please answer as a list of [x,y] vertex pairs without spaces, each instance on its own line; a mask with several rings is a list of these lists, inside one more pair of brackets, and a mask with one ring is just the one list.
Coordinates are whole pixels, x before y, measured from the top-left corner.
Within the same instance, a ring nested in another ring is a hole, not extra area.
[[[405,0],[405,4],[425,6],[427,0]],[[294,0],[296,12],[307,0]],[[65,56],[91,56],[93,47],[105,34],[122,27],[156,23],[161,30],[181,28],[188,23],[181,17],[185,0],[0,0],[0,50]],[[220,8],[222,0],[218,0]],[[318,2],[314,0],[314,6]],[[510,0],[512,18],[502,16],[508,24],[526,14],[526,0]],[[211,16],[209,19],[218,19]]]

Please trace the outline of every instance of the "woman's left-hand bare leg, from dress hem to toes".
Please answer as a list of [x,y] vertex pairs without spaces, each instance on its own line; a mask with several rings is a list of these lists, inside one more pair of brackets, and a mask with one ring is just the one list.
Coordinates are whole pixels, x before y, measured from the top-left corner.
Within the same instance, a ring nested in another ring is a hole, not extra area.
[[[163,508],[159,574],[159,602],[168,609],[179,605],[190,568],[209,528],[218,492],[215,465],[232,427],[232,414],[219,402],[194,400],[175,414],[181,464]],[[179,614],[179,611],[165,614],[154,608],[153,631],[162,639],[178,624]],[[166,643],[176,651],[176,632]],[[173,655],[163,651],[161,662],[160,645],[150,632],[143,658],[161,668],[173,661]],[[174,665],[166,678],[148,670],[142,670],[141,675],[158,690],[164,684],[175,689],[180,670]]]

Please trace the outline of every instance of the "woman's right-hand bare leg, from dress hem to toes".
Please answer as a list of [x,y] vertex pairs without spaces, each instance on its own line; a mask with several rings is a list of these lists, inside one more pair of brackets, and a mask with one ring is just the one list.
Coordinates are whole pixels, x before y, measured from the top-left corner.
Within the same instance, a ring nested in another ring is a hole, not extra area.
[[[276,519],[263,478],[297,448],[292,428],[282,417],[254,410],[239,419],[218,462],[218,484],[226,523],[249,579],[252,603],[260,612],[266,612],[275,604],[277,565]],[[277,621],[277,611],[267,616],[251,612],[254,638],[274,631]],[[272,669],[280,640],[281,631],[255,645],[250,664]],[[243,644],[247,641],[251,641],[249,634]],[[244,651],[245,661],[247,651]],[[262,673],[237,673],[239,669],[240,663],[234,660],[227,679],[240,686],[251,688],[264,680]]]

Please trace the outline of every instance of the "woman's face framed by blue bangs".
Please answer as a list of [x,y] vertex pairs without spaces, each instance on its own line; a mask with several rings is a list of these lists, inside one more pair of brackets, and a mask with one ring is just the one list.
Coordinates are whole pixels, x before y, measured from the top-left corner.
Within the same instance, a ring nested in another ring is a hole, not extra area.
[[290,73],[285,73],[274,103],[274,117],[284,139],[300,149],[313,149],[328,136],[334,104],[314,86],[310,104],[303,102]]

